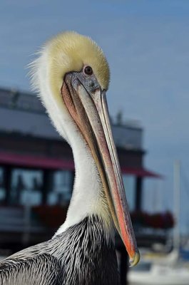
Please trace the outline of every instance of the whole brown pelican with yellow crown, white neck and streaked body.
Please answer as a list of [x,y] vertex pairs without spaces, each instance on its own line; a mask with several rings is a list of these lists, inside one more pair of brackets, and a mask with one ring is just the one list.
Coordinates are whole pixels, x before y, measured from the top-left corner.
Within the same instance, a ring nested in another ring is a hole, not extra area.
[[131,266],[139,253],[106,103],[110,72],[91,38],[61,33],[32,67],[53,125],[73,150],[76,177],[66,222],[48,242],[0,263],[0,284],[119,284],[114,226]]

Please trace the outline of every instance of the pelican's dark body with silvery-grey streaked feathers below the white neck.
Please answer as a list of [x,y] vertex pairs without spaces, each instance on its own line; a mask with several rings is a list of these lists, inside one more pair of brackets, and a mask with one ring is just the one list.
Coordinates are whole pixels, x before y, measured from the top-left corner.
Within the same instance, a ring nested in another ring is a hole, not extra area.
[[2,285],[117,285],[114,244],[98,217],[86,217],[48,242],[0,263]]

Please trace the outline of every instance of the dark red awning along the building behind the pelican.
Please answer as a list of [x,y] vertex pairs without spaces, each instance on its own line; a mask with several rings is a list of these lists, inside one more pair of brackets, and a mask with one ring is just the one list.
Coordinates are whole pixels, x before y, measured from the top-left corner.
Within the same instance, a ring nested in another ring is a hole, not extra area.
[[[14,165],[16,167],[74,170],[74,163],[71,160],[59,160],[57,158],[35,155],[20,155],[10,152],[0,152],[0,164]],[[121,172],[126,175],[136,175],[138,177],[161,177],[144,168],[121,167]]]

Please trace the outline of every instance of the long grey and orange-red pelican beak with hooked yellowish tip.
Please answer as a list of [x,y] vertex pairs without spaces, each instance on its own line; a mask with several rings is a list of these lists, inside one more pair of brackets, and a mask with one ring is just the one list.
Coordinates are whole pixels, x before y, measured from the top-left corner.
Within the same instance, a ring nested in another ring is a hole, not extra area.
[[134,266],[140,259],[128,211],[126,193],[106,102],[106,92],[96,88],[89,92],[80,80],[68,74],[61,88],[63,101],[71,117],[78,125],[91,150],[101,176],[103,190],[113,222],[120,234]]

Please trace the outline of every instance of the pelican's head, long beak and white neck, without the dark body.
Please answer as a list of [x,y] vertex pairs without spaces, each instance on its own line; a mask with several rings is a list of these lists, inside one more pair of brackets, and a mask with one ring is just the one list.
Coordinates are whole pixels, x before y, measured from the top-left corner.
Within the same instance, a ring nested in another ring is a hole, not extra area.
[[91,38],[61,33],[46,43],[32,69],[34,88],[56,129],[71,145],[75,160],[78,191],[73,190],[70,208],[78,204],[70,223],[68,210],[61,230],[85,215],[98,214],[106,226],[113,221],[131,266],[137,264],[139,253],[108,115],[110,71],[103,51]]

